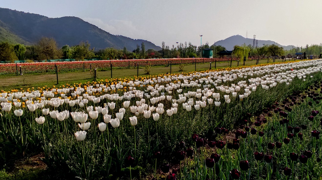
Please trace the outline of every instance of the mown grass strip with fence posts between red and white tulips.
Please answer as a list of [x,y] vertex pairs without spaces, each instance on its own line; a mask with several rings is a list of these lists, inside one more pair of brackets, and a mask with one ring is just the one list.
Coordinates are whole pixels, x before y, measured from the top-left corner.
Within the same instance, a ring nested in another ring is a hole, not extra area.
[[[272,59],[270,59],[271,61]],[[276,59],[276,62],[281,62],[281,59]],[[243,62],[239,62],[239,66],[242,66]],[[267,63],[267,59],[260,60],[259,64]],[[246,61],[245,65],[254,65],[256,64],[256,60],[253,61]],[[215,63],[212,63],[212,69],[214,68]],[[181,73],[179,72],[179,65],[172,65],[171,72],[172,73]],[[237,61],[232,62],[232,67],[237,66]],[[216,63],[216,68],[223,68],[223,67],[230,67],[229,62],[220,62]],[[206,70],[210,68],[210,63],[197,63],[196,70]],[[150,75],[158,75],[158,74],[165,74],[170,73],[170,67],[166,66],[153,66],[151,67]],[[185,70],[183,72],[191,72],[195,70],[194,64],[186,64]],[[137,76],[137,68],[115,68],[112,70],[113,78],[122,78],[122,77],[133,77]],[[144,75],[144,67],[139,67],[139,76],[146,76]],[[98,68],[97,71],[97,78],[98,79],[109,79],[111,78],[111,71],[105,70],[101,71]],[[64,85],[66,83],[84,83],[88,81],[92,81],[92,77],[89,71],[85,72],[64,72],[58,73],[58,81],[59,85]],[[55,85],[56,82],[56,74],[54,73],[28,73],[22,76],[16,75],[0,75],[0,90],[10,90],[10,89],[20,89],[20,88],[28,88],[28,87],[42,87],[44,85],[52,86]]]

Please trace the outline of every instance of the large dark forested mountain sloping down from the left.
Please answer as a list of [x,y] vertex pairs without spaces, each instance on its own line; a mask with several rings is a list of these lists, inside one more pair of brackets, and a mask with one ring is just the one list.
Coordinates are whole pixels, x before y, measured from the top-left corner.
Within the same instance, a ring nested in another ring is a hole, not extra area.
[[0,41],[35,44],[42,37],[54,38],[59,47],[66,44],[78,45],[81,41],[88,41],[95,49],[126,47],[132,51],[144,42],[146,49],[161,49],[147,40],[134,40],[110,34],[78,17],[49,18],[39,14],[0,8]]

